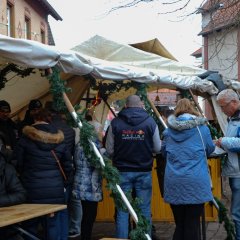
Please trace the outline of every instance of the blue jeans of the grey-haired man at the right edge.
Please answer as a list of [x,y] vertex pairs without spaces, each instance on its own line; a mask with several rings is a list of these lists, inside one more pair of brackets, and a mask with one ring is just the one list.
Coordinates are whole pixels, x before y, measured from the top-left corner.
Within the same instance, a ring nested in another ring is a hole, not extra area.
[[240,240],[240,178],[229,178],[232,191],[231,214],[235,224],[236,240]]

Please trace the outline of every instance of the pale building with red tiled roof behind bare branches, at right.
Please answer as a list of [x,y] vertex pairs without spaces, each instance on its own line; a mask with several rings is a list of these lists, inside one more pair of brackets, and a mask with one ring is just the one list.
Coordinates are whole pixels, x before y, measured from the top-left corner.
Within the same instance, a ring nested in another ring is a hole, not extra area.
[[226,83],[240,79],[239,12],[239,0],[208,0],[200,9],[204,68],[218,71]]

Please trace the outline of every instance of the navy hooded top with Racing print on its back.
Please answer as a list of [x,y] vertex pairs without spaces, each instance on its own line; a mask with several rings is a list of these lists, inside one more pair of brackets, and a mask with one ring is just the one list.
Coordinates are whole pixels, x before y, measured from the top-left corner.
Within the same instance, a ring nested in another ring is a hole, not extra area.
[[119,171],[151,171],[156,123],[142,108],[125,108],[111,122],[113,164]]

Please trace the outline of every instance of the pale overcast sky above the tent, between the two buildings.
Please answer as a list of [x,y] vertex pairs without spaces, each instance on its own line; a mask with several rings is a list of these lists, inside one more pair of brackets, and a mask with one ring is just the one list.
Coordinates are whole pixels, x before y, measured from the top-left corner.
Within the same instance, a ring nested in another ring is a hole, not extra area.
[[159,0],[106,14],[120,1],[48,0],[63,18],[63,21],[56,21],[49,17],[49,22],[59,47],[74,47],[96,34],[127,44],[158,38],[179,61],[193,64],[194,58],[190,54],[202,44],[201,36],[197,36],[201,31],[201,15],[194,14],[183,21],[180,19],[182,15],[196,10],[202,1],[191,0],[185,12],[175,14],[161,14],[173,7],[163,9]]

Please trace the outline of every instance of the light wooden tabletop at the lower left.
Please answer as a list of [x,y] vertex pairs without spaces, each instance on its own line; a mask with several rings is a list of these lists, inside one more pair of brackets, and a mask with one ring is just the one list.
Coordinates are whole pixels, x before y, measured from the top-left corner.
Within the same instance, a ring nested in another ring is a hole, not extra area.
[[19,204],[0,208],[0,227],[19,223],[67,208],[62,204]]

